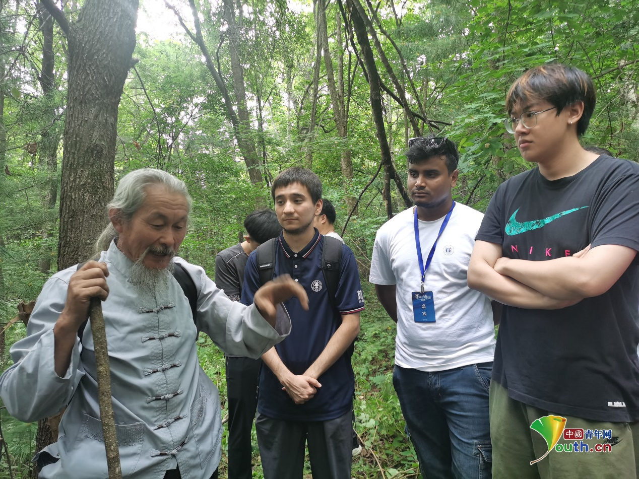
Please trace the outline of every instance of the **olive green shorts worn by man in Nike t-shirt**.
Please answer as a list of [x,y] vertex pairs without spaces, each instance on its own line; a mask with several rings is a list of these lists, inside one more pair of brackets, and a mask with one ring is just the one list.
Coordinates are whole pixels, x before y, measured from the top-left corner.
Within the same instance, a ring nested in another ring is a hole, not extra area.
[[[493,479],[639,477],[639,423],[596,422],[573,416],[563,416],[565,423],[559,418],[535,422],[555,414],[511,399],[497,381],[490,383],[489,408]],[[555,420],[559,425],[552,422]],[[536,429],[531,429],[534,422]],[[537,430],[544,432],[551,443],[553,430],[556,431],[554,437],[561,439],[548,452],[546,439]],[[564,439],[564,432],[570,439]],[[539,462],[530,464],[547,452]]]

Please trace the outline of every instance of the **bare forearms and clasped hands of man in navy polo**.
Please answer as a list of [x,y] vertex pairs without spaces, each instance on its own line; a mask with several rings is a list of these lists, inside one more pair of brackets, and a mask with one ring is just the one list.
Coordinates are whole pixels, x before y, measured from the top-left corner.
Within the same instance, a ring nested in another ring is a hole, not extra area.
[[286,391],[295,404],[303,404],[312,399],[321,388],[319,376],[324,374],[344,351],[355,340],[360,330],[360,314],[342,315],[342,324],[332,335],[324,350],[312,363],[304,374],[293,374],[282,362],[275,347],[272,347],[262,355],[262,360],[273,371],[273,374],[282,384],[282,390]]

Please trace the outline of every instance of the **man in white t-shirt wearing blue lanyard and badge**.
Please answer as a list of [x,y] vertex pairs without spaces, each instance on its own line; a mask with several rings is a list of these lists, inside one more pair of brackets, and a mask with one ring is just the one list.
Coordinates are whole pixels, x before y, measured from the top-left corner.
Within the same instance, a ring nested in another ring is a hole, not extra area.
[[393,384],[423,476],[490,478],[493,310],[466,282],[484,215],[452,201],[452,141],[412,139],[406,158],[416,206],[377,232],[369,278],[397,323]]

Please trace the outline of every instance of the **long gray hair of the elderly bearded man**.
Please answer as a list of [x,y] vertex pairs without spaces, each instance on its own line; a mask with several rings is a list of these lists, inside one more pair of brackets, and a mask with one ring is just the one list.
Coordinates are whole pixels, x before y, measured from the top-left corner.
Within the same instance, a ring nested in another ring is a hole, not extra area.
[[[181,179],[175,178],[166,171],[153,168],[142,168],[127,173],[118,183],[113,199],[107,204],[108,209],[119,209],[119,217],[126,222],[130,221],[137,211],[146,201],[146,188],[153,185],[162,185],[172,193],[179,193],[185,197],[191,211],[192,199],[187,190],[187,185]],[[96,255],[109,249],[113,239],[118,238],[119,233],[111,222],[98,236],[93,246]]]

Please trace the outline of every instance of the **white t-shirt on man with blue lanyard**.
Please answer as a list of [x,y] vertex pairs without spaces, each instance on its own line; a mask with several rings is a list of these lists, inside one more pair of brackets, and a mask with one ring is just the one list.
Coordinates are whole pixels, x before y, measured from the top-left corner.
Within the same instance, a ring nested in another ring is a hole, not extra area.
[[[455,204],[450,221],[426,271],[424,291],[433,291],[435,323],[416,323],[411,293],[420,291],[414,208],[402,211],[377,232],[373,284],[397,285],[395,363],[404,368],[441,371],[493,360],[495,329],[488,296],[468,287],[468,262],[484,215]],[[444,218],[419,220],[424,266]]]

